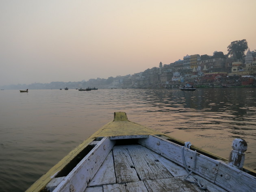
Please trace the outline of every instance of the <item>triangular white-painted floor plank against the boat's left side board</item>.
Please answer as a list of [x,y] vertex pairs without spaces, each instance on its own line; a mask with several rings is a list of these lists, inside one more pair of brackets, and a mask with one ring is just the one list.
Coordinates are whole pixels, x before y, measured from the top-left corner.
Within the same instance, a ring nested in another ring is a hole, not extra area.
[[113,152],[110,151],[108,156],[100,166],[98,172],[95,174],[93,179],[88,183],[87,187],[91,186],[102,186],[106,184],[116,183],[115,168],[113,162]]

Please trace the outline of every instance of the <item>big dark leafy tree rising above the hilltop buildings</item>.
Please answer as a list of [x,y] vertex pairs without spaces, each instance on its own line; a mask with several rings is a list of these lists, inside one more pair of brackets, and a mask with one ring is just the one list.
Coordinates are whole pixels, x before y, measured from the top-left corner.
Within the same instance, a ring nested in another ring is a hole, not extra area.
[[245,50],[248,49],[246,39],[232,41],[230,45],[228,45],[228,55],[236,55],[236,58],[241,59],[245,56]]

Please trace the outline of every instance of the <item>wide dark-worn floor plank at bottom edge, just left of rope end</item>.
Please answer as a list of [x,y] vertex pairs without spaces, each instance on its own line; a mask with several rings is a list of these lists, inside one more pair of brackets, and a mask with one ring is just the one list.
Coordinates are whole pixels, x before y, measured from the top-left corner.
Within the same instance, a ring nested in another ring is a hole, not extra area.
[[195,184],[179,177],[144,181],[149,192],[203,192]]

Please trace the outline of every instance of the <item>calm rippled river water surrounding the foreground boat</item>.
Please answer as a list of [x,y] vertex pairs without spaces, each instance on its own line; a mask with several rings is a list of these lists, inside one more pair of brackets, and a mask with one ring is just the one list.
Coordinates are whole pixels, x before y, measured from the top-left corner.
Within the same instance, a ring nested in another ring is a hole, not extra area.
[[0,192],[23,192],[115,111],[228,159],[246,140],[256,170],[256,88],[0,91]]

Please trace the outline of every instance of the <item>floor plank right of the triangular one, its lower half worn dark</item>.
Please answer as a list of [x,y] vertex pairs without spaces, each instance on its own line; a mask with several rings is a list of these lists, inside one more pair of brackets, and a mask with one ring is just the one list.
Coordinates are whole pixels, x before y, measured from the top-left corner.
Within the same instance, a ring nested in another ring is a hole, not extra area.
[[117,183],[139,181],[134,164],[126,148],[113,147],[113,157]]

